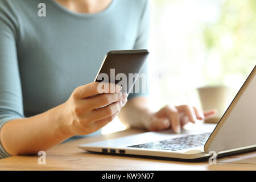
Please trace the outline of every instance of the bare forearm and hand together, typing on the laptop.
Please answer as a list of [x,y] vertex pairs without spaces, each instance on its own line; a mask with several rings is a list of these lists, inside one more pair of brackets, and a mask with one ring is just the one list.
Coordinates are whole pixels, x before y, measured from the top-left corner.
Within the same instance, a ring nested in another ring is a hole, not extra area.
[[119,119],[132,127],[146,128],[150,131],[172,129],[179,133],[188,122],[204,120],[213,117],[216,110],[201,111],[189,105],[167,105],[157,112],[150,108],[149,97],[135,97],[130,99],[122,108]]

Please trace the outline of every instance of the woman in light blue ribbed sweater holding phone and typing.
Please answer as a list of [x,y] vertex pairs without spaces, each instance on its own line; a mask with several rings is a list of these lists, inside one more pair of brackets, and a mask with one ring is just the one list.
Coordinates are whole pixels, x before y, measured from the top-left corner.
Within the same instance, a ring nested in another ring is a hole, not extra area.
[[147,96],[127,102],[118,86],[97,95],[92,80],[106,52],[147,47],[147,0],[2,0],[0,35],[0,158],[94,133],[118,114],[133,127],[176,133],[214,114],[187,105],[154,113]]

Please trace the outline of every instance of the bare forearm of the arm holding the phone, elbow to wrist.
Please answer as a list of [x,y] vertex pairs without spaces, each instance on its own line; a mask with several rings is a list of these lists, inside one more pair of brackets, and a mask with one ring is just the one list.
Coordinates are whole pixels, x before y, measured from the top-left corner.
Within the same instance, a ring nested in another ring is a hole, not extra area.
[[30,118],[13,119],[3,125],[0,139],[10,155],[37,154],[72,137],[65,128],[63,105]]

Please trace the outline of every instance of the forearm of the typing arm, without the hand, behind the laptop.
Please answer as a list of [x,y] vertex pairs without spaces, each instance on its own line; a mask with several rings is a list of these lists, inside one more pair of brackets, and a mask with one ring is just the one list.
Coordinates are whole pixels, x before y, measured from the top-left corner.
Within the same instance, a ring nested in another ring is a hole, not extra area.
[[153,113],[149,107],[148,97],[135,97],[122,108],[118,118],[131,127],[145,129],[145,121]]

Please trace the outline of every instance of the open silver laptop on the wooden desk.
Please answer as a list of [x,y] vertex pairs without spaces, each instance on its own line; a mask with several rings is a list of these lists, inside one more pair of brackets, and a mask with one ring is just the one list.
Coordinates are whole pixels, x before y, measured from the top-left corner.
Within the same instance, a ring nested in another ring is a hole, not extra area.
[[[208,124],[210,125],[210,124]],[[205,124],[204,126],[207,126]],[[207,159],[256,150],[256,66],[217,125],[201,130],[146,132],[81,144],[102,154],[150,156],[180,160]]]

